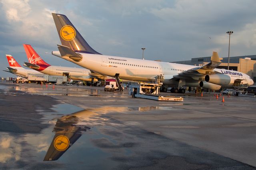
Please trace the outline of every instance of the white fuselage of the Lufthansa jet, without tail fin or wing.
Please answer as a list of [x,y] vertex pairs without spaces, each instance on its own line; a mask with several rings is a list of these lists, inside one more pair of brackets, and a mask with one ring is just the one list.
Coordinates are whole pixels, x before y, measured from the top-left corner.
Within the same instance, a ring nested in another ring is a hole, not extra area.
[[[114,77],[116,73],[119,73],[122,79],[130,81],[153,81],[156,75],[163,75],[164,84],[166,85],[174,85],[174,81],[170,80],[173,78],[174,75],[178,75],[178,73],[181,73],[182,71],[197,67],[193,65],[133,59],[127,57],[116,57],[88,53],[79,54],[82,55],[81,61],[74,61],[69,57],[61,58],[76,63],[77,65],[80,65],[81,67],[84,67],[86,69],[93,70],[102,75]],[[222,85],[222,87],[232,87],[236,79],[242,79],[241,83],[248,83],[248,85],[252,85],[254,83],[248,75],[239,71],[231,71],[226,69],[214,69],[214,71],[224,73],[230,77],[230,83],[228,85]],[[227,73],[226,71],[229,72]],[[204,76],[191,77],[192,81],[186,82],[186,86],[196,87],[198,84],[197,82],[204,81]],[[193,81],[195,82],[194,85],[191,84],[191,82]]]

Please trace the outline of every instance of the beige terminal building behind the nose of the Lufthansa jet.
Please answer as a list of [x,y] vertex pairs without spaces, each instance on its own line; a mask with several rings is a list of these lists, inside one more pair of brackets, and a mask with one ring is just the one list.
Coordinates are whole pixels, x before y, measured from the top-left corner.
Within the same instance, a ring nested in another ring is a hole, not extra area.
[[[197,57],[192,58],[187,61],[174,61],[170,63],[179,63],[179,64],[187,64],[187,65],[197,65],[203,66],[209,63],[211,57]],[[217,67],[219,69],[228,69],[228,57],[224,57],[222,63]],[[246,55],[246,56],[237,56],[237,57],[229,57],[229,69],[234,71],[240,71],[249,75],[254,84],[256,82],[256,55]]]

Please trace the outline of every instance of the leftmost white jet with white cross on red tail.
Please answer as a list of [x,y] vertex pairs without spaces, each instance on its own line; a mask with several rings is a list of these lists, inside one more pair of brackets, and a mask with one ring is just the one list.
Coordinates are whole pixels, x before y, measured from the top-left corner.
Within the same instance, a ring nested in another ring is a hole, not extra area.
[[[38,71],[35,71],[33,69],[24,69],[20,66],[20,64],[12,57],[12,55],[6,54],[7,61],[9,63],[9,67],[6,68],[6,72],[13,73],[14,75],[20,76],[20,77],[28,77],[28,73],[40,73]],[[41,73],[40,73],[41,74]]]

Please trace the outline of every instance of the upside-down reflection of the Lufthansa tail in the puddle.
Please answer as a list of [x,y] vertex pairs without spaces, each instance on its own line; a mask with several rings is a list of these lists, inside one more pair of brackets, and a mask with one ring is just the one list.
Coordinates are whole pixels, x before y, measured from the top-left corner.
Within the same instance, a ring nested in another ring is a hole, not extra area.
[[90,130],[86,124],[90,121],[90,117],[95,115],[98,114],[82,110],[59,118],[53,129],[54,138],[44,160],[58,160],[82,136],[83,132]]

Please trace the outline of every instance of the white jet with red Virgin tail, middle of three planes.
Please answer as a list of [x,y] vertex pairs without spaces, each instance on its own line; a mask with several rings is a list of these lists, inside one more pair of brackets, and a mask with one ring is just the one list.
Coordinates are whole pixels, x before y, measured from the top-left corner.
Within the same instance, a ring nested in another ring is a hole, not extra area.
[[[66,75],[70,79],[81,81],[98,81],[90,76],[90,70],[75,67],[54,66],[46,63],[31,45],[23,44],[29,62],[24,62],[24,66],[40,71],[48,75]],[[101,75],[102,76],[102,75]]]

